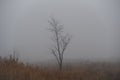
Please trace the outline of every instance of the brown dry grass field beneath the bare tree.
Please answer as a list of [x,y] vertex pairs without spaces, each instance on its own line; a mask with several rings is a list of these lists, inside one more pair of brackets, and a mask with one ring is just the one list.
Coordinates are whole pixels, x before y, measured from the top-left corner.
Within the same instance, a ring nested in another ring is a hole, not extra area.
[[91,63],[57,69],[45,69],[10,60],[0,60],[0,80],[120,80],[118,64]]

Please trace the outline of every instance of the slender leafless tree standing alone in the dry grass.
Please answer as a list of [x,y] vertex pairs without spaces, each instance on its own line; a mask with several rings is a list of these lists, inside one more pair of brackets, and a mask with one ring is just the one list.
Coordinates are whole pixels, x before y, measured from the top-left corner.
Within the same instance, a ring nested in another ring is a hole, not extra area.
[[51,18],[51,20],[48,22],[51,26],[49,30],[53,34],[52,40],[54,43],[50,50],[57,60],[59,69],[62,70],[63,55],[71,40],[71,36],[63,34],[63,25],[59,24],[59,22],[56,21],[54,18]]

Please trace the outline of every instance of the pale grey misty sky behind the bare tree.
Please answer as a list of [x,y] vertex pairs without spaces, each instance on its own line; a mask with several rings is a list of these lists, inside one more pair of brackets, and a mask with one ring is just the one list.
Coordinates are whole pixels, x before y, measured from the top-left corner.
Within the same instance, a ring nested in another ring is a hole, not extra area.
[[72,35],[67,59],[120,57],[119,0],[0,0],[0,55],[15,49],[22,60],[51,60],[48,20]]

